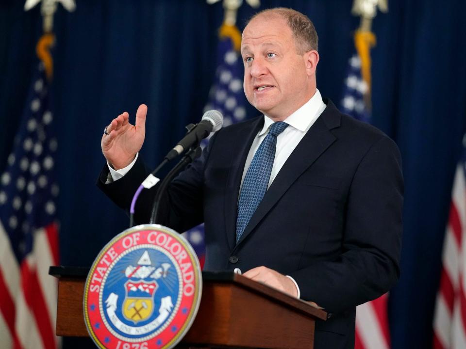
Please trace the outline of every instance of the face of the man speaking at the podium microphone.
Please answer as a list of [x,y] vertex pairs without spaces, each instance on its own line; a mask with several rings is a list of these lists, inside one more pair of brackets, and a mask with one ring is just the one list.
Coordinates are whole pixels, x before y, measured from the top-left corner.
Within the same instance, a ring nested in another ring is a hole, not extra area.
[[297,53],[285,19],[258,16],[250,21],[243,31],[241,55],[246,98],[270,118],[285,119],[314,94],[306,54]]

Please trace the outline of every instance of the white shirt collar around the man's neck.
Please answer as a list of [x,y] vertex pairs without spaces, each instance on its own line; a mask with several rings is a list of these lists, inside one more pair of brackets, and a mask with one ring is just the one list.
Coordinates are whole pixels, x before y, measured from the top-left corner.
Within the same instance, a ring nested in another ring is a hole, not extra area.
[[[304,132],[309,124],[316,119],[317,112],[320,110],[320,107],[323,104],[322,96],[320,95],[319,90],[316,89],[316,93],[309,99],[304,105],[288,116],[284,122],[286,122],[291,127],[294,127],[301,132]],[[258,136],[265,134],[275,121],[270,119],[267,115],[264,115],[264,127],[262,127]]]

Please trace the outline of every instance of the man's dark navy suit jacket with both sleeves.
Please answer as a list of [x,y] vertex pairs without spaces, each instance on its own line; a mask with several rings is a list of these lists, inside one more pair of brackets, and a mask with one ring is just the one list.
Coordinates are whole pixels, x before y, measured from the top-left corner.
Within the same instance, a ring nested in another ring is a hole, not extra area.
[[[204,270],[266,266],[292,276],[301,299],[331,313],[316,324],[315,348],[352,348],[356,305],[381,296],[399,278],[401,159],[381,131],[324,102],[326,109],[286,160],[238,244],[241,177],[263,117],[214,135],[201,158],[169,186],[160,223],[183,232],[205,222]],[[147,174],[138,159],[122,179],[104,184],[105,165],[98,185],[128,210]],[[149,222],[155,190],[143,190],[136,222]]]

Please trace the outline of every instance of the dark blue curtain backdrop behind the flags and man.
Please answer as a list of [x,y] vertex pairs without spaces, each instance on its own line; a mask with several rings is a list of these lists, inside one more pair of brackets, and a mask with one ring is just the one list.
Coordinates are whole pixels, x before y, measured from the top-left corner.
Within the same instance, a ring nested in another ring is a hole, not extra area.
[[[350,0],[262,0],[307,14],[319,34],[317,86],[339,104],[352,31]],[[0,171],[13,146],[41,34],[40,9],[0,4]],[[373,123],[399,145],[405,178],[401,279],[391,293],[393,348],[430,348],[451,183],[466,121],[466,2],[391,0],[373,24]],[[244,4],[238,26],[254,13]],[[215,73],[221,4],[77,0],[55,15],[53,97],[59,132],[61,261],[89,266],[128,220],[97,190],[103,127],[149,106],[142,155],[155,166],[202,115]],[[257,115],[253,108],[248,116]],[[382,198],[381,198],[382,199]],[[75,342],[76,343],[76,342]],[[71,348],[70,342],[66,347]]]

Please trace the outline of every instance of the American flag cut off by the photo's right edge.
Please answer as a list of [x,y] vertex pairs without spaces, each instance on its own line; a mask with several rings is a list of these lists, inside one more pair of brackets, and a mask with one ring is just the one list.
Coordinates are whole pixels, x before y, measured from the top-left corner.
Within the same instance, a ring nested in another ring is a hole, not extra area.
[[433,317],[433,348],[466,348],[466,136],[456,167]]

